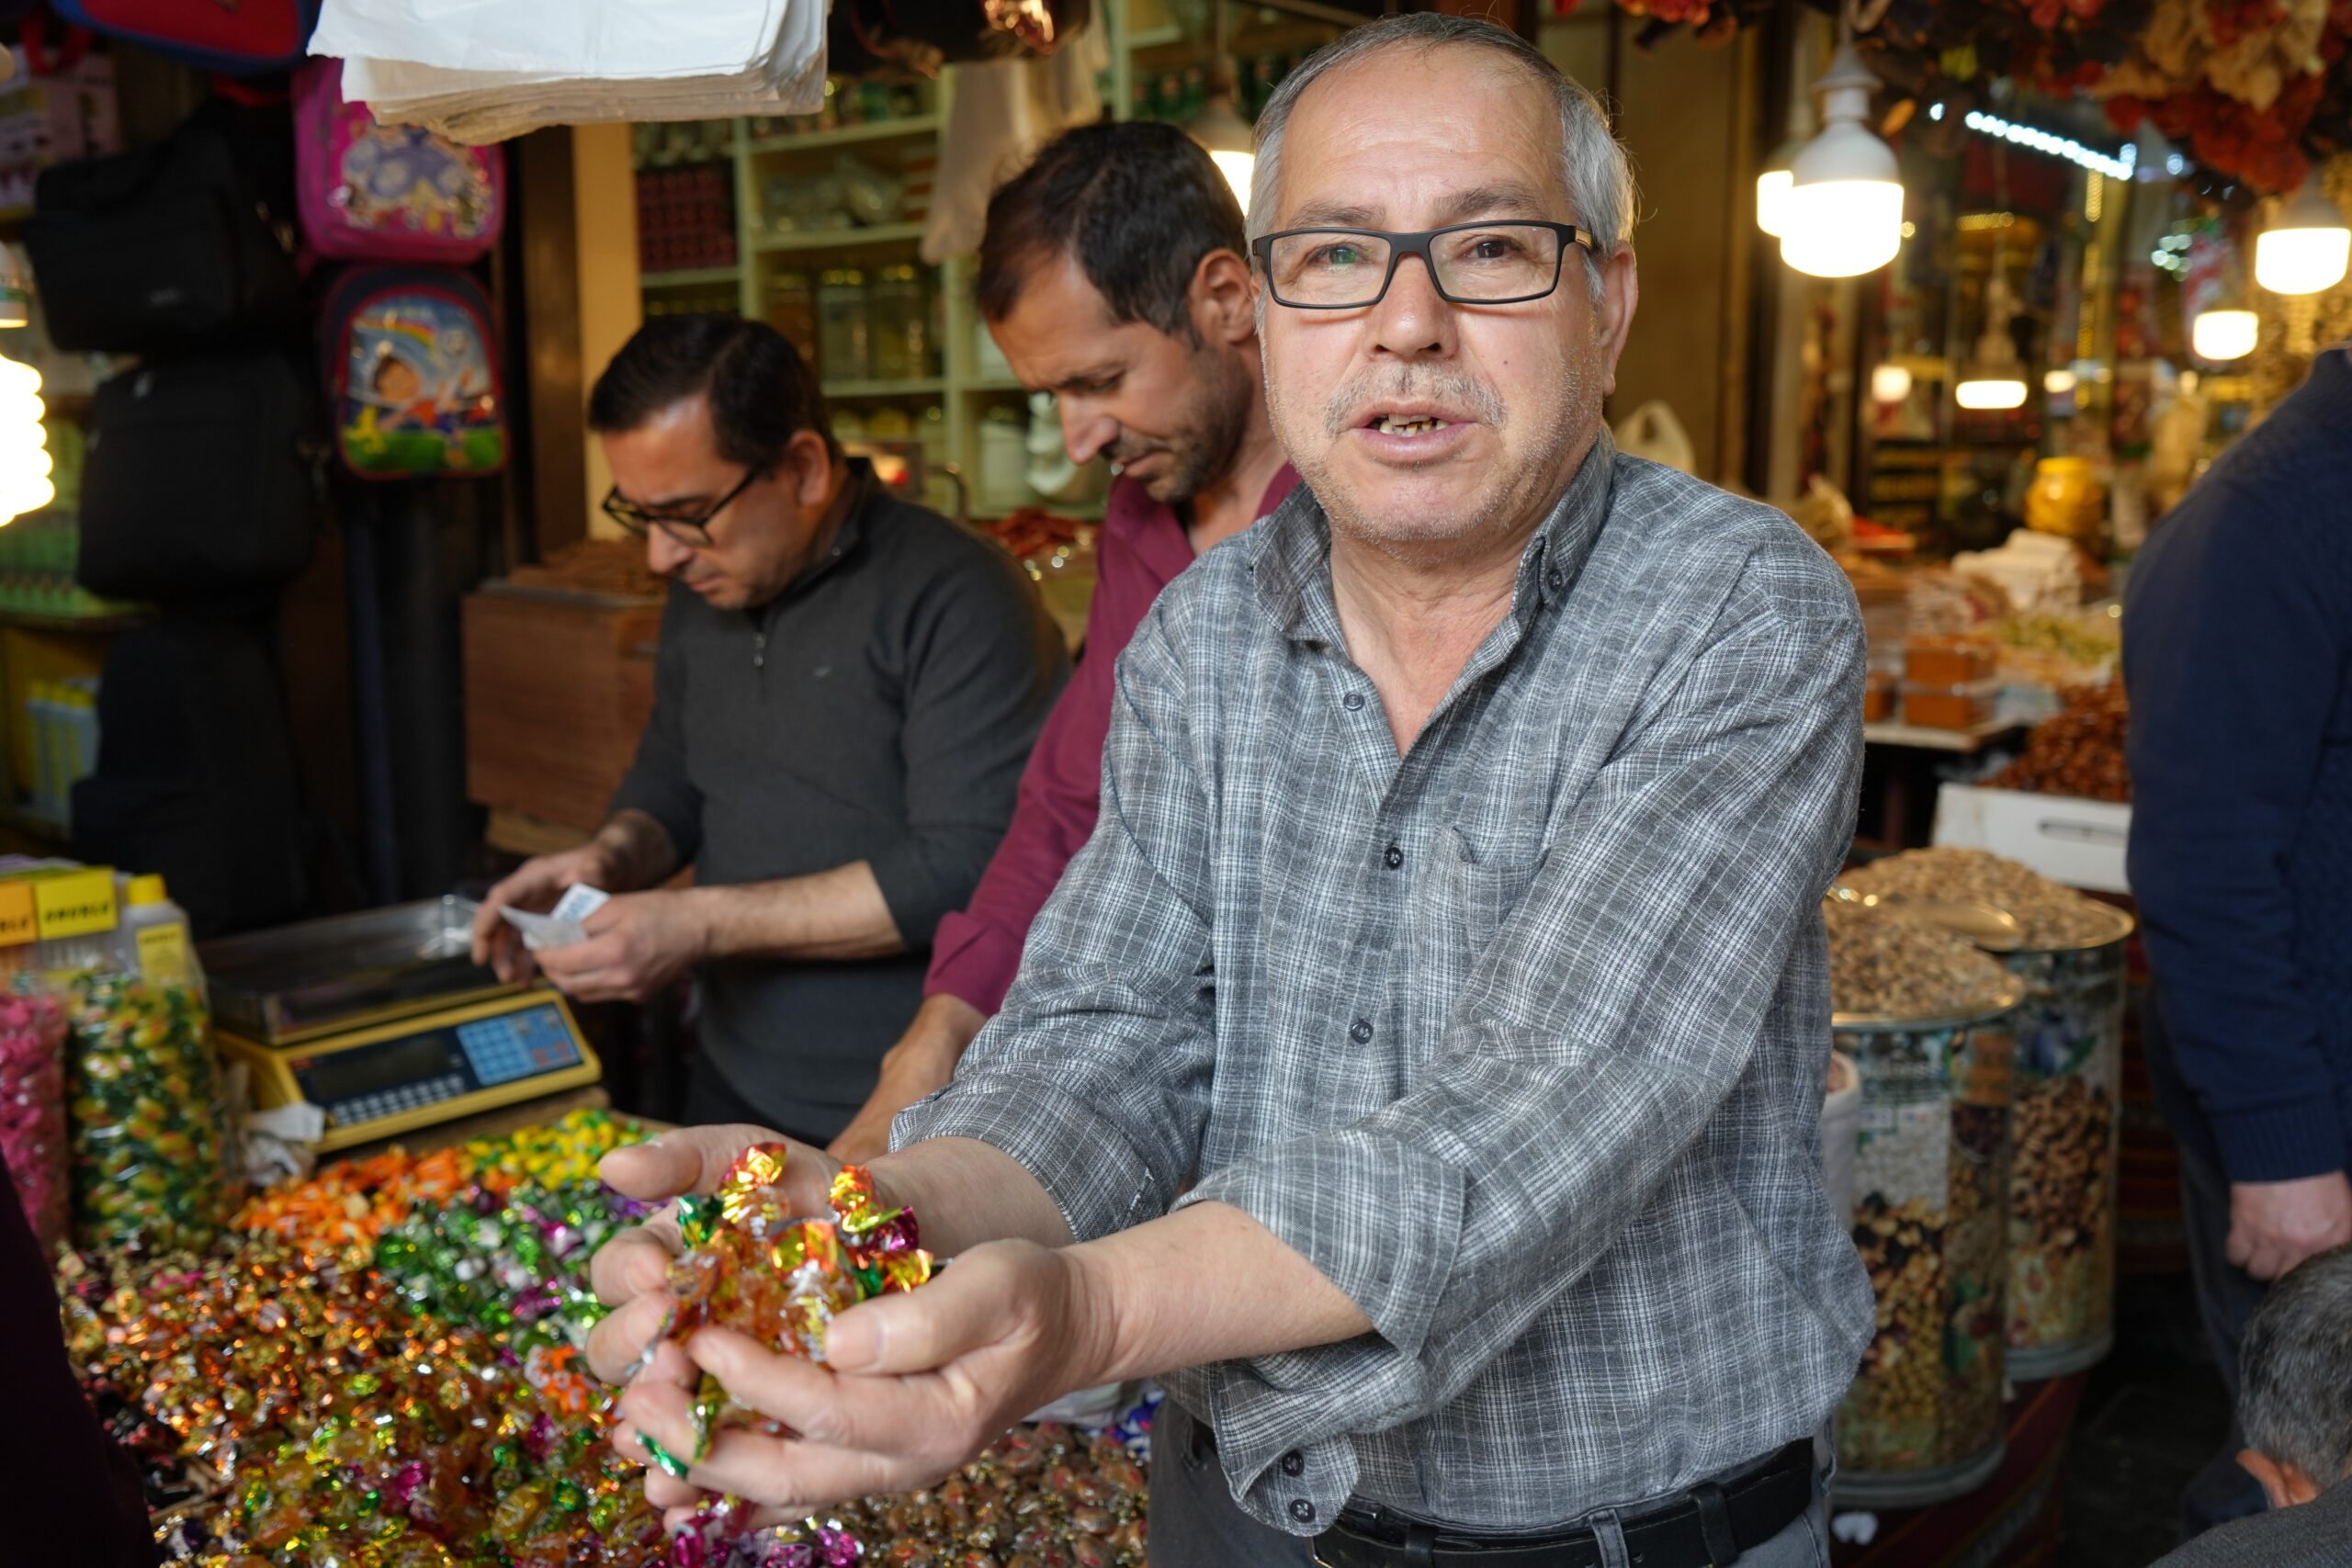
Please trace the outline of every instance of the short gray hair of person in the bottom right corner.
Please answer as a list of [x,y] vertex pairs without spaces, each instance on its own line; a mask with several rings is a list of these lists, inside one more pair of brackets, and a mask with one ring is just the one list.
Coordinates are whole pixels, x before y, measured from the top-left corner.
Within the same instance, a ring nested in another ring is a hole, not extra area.
[[2326,1490],[2352,1479],[2352,1246],[2296,1265],[2239,1345],[2246,1443]]

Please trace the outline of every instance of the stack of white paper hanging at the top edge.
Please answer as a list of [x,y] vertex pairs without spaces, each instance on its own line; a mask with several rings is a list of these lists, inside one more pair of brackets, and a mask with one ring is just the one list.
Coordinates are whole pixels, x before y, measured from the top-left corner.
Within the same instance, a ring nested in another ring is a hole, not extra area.
[[310,54],[388,125],[487,143],[541,125],[807,115],[826,0],[325,0]]

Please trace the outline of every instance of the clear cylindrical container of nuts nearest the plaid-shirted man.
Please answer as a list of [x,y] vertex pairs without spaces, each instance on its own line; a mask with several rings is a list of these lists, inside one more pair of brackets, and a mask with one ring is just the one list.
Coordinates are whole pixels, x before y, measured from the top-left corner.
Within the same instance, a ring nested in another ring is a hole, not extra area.
[[2018,994],[1962,1018],[1832,1018],[1835,1048],[1860,1077],[1853,1244],[1879,1316],[1837,1415],[1842,1505],[1924,1507],[2002,1467]]

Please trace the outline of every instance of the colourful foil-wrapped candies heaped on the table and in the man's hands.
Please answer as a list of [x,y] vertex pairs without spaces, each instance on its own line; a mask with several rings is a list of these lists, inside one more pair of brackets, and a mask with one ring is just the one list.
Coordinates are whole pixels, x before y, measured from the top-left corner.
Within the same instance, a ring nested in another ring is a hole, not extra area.
[[[595,1248],[644,1208],[593,1180],[637,1126],[602,1112],[423,1159],[339,1161],[263,1194],[209,1251],[66,1255],[66,1333],[141,1458],[172,1561],[202,1568],[1101,1568],[1143,1563],[1129,1429],[1009,1434],[938,1488],[684,1533],[612,1453],[581,1345]],[[781,1150],[684,1204],[673,1333],[746,1328],[818,1354],[823,1321],[931,1269],[913,1215],[844,1173],[835,1215],[783,1213]],[[715,1427],[757,1420],[706,1387]]]

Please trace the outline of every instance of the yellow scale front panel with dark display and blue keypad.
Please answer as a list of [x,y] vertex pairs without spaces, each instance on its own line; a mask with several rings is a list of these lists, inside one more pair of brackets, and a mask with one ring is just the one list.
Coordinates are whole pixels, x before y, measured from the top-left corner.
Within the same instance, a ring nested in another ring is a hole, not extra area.
[[348,1044],[285,1046],[278,1058],[299,1098],[327,1112],[332,1131],[322,1147],[473,1114],[597,1074],[572,1016],[548,994],[374,1030]]

